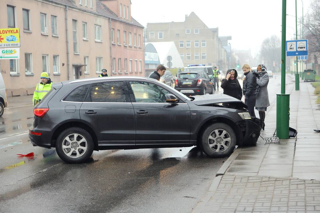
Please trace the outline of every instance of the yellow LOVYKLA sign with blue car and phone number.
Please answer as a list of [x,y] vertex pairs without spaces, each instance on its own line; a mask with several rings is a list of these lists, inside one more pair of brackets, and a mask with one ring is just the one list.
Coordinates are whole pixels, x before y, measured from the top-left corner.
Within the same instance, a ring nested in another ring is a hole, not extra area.
[[19,28],[0,29],[0,48],[20,47]]

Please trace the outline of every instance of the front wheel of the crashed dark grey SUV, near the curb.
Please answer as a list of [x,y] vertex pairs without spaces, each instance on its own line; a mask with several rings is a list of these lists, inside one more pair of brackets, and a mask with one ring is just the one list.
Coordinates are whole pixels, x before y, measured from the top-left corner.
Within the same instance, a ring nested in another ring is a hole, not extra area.
[[236,134],[229,125],[214,123],[204,130],[200,143],[206,155],[210,157],[226,157],[236,147]]

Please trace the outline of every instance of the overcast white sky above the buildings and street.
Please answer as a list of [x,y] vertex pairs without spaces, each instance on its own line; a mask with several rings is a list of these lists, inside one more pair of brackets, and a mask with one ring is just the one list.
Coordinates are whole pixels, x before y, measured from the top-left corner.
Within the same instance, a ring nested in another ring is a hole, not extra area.
[[[304,14],[311,0],[302,0]],[[219,36],[231,35],[233,49],[249,49],[255,56],[263,39],[281,37],[281,0],[131,0],[132,17],[144,27],[154,22],[182,22],[192,11],[209,28],[219,27]],[[302,15],[297,0],[298,17]],[[295,0],[287,0],[287,14],[295,16]],[[295,18],[287,16],[287,40],[295,33]],[[292,29],[292,28],[294,29]],[[298,32],[300,27],[298,26]],[[290,35],[291,34],[291,35]],[[299,38],[298,38],[299,39]]]

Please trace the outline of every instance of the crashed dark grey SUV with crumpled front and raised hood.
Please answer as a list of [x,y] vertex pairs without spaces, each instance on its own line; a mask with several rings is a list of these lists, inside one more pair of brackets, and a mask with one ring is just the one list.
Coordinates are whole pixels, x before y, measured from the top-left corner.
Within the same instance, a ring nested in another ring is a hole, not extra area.
[[187,97],[157,80],[108,77],[52,85],[34,109],[29,138],[80,163],[93,150],[200,146],[211,157],[256,143],[260,127],[228,95]]

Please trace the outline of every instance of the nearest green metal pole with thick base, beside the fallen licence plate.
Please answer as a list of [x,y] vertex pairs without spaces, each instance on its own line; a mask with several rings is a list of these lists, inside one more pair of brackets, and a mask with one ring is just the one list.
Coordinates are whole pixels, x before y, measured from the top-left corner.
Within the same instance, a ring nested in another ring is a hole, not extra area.
[[286,30],[286,0],[282,0],[282,36],[281,36],[281,94],[277,94],[276,134],[279,139],[289,138],[289,100],[285,94],[285,30]]

